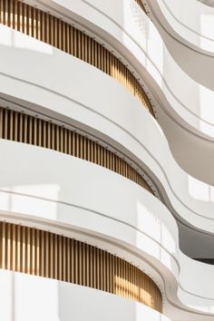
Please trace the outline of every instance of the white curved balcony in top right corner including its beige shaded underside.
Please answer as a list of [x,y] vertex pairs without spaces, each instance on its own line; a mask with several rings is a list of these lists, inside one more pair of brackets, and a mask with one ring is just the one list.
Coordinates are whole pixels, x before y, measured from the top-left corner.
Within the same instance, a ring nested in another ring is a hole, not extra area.
[[176,63],[197,83],[214,90],[214,8],[197,0],[147,0],[147,8]]

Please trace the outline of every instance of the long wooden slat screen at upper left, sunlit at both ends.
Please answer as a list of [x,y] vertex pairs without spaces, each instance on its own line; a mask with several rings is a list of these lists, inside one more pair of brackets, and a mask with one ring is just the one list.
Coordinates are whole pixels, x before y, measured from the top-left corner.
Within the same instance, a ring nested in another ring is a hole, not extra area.
[[[138,0],[139,4],[141,1]],[[0,24],[28,34],[46,44],[70,53],[108,73],[122,83],[151,112],[151,102],[130,70],[92,37],[31,5],[17,0],[0,0]]]

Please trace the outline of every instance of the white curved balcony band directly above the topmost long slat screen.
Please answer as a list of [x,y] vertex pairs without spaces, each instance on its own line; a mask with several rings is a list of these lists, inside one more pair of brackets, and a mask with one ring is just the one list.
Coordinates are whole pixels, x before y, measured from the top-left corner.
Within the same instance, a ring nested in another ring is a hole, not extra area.
[[106,41],[131,62],[170,117],[189,131],[213,141],[214,114],[210,105],[214,102],[214,92],[192,80],[175,63],[158,30],[134,0],[117,0],[113,10],[111,3],[104,0],[28,0],[28,3],[82,24],[83,29],[88,28]]

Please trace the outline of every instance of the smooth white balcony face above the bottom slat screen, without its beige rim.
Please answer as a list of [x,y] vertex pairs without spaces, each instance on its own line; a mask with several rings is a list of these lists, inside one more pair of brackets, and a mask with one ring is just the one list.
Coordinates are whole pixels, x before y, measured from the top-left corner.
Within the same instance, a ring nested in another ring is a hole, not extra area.
[[20,213],[35,222],[117,238],[153,253],[178,277],[178,228],[150,192],[112,170],[60,152],[2,140],[0,153],[3,217]]

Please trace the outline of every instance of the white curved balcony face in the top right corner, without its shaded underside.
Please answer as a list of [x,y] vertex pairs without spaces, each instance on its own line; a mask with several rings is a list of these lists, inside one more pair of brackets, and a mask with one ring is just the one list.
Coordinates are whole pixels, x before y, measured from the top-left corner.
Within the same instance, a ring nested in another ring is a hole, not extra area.
[[[212,33],[214,8],[195,0],[188,2],[185,0],[173,2],[147,0],[147,3],[155,10],[160,21],[164,25],[168,24],[171,31],[174,31],[173,36],[178,37],[185,45],[188,44],[200,53],[214,55],[214,34]],[[162,17],[165,18],[165,22]]]

